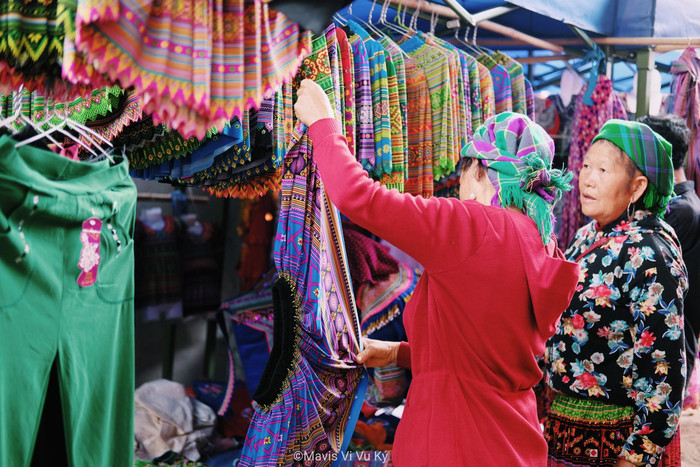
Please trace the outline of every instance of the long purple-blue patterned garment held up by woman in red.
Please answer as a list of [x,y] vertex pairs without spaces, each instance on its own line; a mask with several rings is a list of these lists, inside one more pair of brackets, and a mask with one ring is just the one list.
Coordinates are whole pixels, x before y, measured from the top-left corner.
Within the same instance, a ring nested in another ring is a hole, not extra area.
[[[325,36],[314,39],[298,78],[314,79],[337,104],[325,44]],[[327,465],[330,457],[323,454],[350,442],[367,382],[353,358],[360,326],[342,224],[317,176],[307,136],[284,159],[281,199],[275,342],[253,395],[258,405],[240,465],[286,465],[298,452]]]

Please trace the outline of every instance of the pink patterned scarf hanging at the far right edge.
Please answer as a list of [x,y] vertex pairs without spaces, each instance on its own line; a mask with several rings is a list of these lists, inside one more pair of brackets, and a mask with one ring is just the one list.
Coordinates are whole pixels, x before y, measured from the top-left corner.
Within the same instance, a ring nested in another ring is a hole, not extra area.
[[700,194],[700,55],[693,47],[671,65],[673,79],[666,110],[685,118],[691,131],[686,172]]

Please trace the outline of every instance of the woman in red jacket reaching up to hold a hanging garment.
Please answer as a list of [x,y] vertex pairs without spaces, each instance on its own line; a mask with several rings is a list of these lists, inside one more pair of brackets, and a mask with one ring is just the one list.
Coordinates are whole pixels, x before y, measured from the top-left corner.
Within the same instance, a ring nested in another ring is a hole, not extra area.
[[[526,116],[492,117],[462,151],[460,199],[425,199],[367,177],[313,81],[295,111],[340,212],[425,267],[404,312],[413,380],[394,463],[544,466],[536,356],[578,279],[552,236],[552,204],[570,188],[551,169],[552,140]],[[368,344],[358,362],[397,361],[398,343]]]

